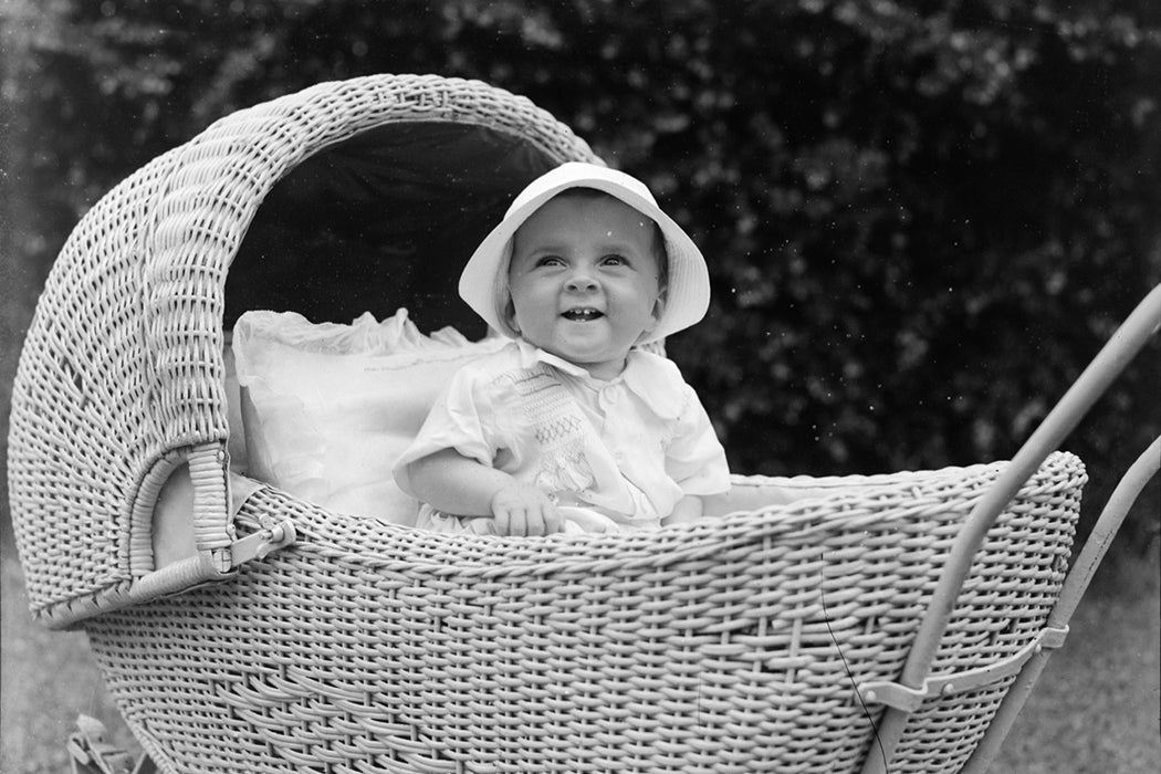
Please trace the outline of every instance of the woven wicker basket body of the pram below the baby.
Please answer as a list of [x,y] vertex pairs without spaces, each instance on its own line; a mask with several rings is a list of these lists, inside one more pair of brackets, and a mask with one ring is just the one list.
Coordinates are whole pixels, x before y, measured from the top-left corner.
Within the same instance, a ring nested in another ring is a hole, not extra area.
[[[94,619],[127,721],[166,771],[856,772],[853,686],[894,680],[1000,465],[649,535],[441,536],[265,490],[300,541],[236,579]],[[936,659],[1027,644],[1084,472],[1054,454],[989,533]],[[921,708],[892,772],[953,772],[1007,686]]]

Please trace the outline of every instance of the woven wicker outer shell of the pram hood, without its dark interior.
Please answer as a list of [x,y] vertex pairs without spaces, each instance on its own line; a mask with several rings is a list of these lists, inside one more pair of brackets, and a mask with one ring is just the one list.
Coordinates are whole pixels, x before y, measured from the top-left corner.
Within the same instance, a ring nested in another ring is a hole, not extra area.
[[[376,75],[222,118],[117,186],[70,236],[13,388],[9,497],[38,619],[66,625],[131,598],[153,570],[159,468],[195,444],[224,455],[224,284],[262,196],[310,154],[409,121],[486,125],[556,161],[596,160],[524,97]],[[219,478],[224,494],[224,456]],[[224,508],[195,509],[194,521],[200,549],[229,547]]]

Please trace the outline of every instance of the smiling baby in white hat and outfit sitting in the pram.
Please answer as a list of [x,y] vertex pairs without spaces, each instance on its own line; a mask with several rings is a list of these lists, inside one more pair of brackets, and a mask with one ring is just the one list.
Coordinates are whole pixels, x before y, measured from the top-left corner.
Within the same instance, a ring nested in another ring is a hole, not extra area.
[[635,178],[569,162],[513,201],[460,277],[512,341],[463,367],[395,466],[437,531],[658,529],[729,489],[677,367],[642,345],[698,323],[705,259]]

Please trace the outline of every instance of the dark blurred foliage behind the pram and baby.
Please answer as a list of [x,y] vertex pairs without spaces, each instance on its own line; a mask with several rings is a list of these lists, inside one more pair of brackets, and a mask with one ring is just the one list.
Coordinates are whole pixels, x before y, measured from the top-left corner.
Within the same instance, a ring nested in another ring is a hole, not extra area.
[[[2,9],[8,375],[56,252],[116,182],[238,108],[380,72],[524,94],[651,186],[711,262],[712,312],[670,352],[737,471],[1007,458],[1161,281],[1151,0]],[[1098,501],[1161,429],[1158,354],[1067,444]]]

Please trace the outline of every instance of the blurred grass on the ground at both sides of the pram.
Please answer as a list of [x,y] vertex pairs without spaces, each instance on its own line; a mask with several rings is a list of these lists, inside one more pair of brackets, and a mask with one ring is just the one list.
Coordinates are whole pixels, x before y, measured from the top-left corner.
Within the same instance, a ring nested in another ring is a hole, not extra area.
[[[6,538],[8,536],[6,535]],[[77,715],[136,743],[111,706],[85,635],[50,632],[28,616],[20,565],[2,552],[3,646],[0,772],[67,771]],[[1161,771],[1161,562],[1106,562],[1050,659],[993,774],[1139,774]]]

